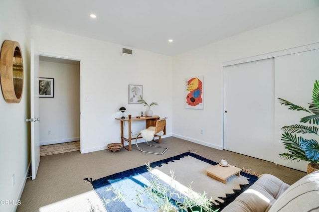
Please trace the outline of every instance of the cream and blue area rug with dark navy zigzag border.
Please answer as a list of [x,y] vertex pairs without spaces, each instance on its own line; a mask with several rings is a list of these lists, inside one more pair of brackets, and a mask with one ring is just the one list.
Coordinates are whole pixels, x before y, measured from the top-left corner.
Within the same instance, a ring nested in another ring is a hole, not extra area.
[[[174,170],[175,181],[187,188],[191,185],[192,190],[198,193],[207,193],[212,198],[213,209],[221,211],[231,203],[238,195],[247,190],[257,179],[255,175],[241,172],[240,176],[233,176],[227,180],[227,184],[216,181],[206,175],[206,169],[218,163],[201,157],[197,154],[186,152],[171,158],[151,163],[154,171],[170,177],[170,170]],[[123,195],[134,199],[136,191],[148,186],[151,173],[147,166],[141,166],[124,172],[116,173],[97,180],[89,181],[101,201],[113,200],[116,195],[114,191],[119,190]],[[112,189],[110,189],[112,188]],[[182,189],[181,189],[182,190]],[[182,193],[182,191],[181,191]],[[104,204],[108,212],[148,212],[157,211],[156,205],[148,197],[144,197],[144,205],[147,209],[137,206],[132,201],[111,201]]]

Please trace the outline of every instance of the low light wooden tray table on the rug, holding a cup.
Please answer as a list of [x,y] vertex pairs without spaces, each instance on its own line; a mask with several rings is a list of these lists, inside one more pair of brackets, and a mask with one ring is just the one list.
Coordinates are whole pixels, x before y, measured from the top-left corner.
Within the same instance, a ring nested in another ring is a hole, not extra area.
[[215,180],[218,180],[224,184],[227,184],[227,179],[231,176],[240,175],[240,168],[237,168],[235,166],[229,165],[227,167],[215,165],[208,169],[206,169],[207,175],[211,178],[214,178]]

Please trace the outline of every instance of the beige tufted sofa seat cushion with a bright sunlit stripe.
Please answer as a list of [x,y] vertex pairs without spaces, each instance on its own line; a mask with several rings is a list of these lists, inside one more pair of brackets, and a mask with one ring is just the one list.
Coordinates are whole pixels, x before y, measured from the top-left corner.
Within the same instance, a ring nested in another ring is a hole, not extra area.
[[277,177],[263,174],[222,212],[265,212],[288,187]]

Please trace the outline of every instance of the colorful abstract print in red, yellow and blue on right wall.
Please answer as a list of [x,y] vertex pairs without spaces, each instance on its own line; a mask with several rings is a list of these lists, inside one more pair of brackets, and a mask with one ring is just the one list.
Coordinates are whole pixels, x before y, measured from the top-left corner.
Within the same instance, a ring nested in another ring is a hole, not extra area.
[[204,109],[204,76],[186,78],[185,108]]

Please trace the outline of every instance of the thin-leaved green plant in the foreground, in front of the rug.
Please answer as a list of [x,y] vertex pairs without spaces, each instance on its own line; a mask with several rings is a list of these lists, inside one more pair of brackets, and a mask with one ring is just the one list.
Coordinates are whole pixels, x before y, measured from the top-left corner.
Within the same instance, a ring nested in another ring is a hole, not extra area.
[[[166,184],[160,181],[160,177],[153,174],[150,163],[146,164],[148,171],[151,172],[150,184],[143,190],[136,190],[135,199],[130,199],[128,196],[121,193],[121,191],[112,190],[116,198],[111,201],[131,201],[141,208],[149,211],[144,203],[142,195],[147,195],[150,200],[159,208],[158,212],[217,212],[211,208],[211,199],[208,199],[206,193],[200,194],[193,192],[191,186],[188,186],[188,195],[181,195],[173,186],[175,176],[174,171],[170,170],[170,183]],[[105,200],[104,204],[108,204],[110,200]]]

